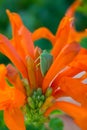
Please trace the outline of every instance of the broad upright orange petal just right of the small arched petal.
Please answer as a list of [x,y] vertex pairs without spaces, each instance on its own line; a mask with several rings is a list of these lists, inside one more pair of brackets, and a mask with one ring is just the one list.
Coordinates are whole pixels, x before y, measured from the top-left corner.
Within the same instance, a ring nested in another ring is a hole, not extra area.
[[[53,47],[51,53],[54,58],[59,54],[61,49],[67,44],[69,38],[69,33],[71,29],[71,20],[68,17],[64,17],[58,27],[55,37],[55,46]],[[66,35],[67,32],[67,35]]]

